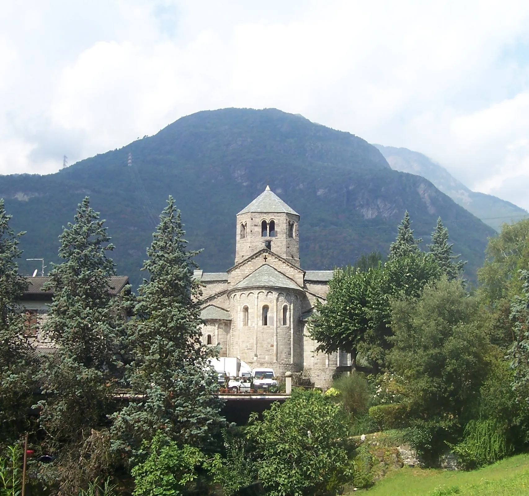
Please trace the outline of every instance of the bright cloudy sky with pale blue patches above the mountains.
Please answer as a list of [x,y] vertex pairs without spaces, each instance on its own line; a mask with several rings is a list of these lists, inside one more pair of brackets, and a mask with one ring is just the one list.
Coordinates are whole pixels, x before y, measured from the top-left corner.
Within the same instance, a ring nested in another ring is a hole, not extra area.
[[275,107],[529,209],[529,2],[0,0],[0,174]]

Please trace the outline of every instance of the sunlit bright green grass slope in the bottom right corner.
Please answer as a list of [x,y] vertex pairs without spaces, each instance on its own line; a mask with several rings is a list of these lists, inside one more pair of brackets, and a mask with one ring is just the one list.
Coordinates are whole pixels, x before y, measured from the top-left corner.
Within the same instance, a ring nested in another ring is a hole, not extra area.
[[472,472],[407,468],[388,474],[366,496],[518,496],[529,495],[529,454],[506,458]]

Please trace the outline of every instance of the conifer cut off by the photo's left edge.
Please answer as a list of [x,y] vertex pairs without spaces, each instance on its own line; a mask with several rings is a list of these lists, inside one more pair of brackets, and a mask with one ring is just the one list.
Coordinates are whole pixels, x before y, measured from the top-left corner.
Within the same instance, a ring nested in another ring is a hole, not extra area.
[[19,275],[19,238],[10,228],[0,199],[0,444],[15,441],[25,427],[32,404],[35,357],[24,336],[22,293],[28,286]]

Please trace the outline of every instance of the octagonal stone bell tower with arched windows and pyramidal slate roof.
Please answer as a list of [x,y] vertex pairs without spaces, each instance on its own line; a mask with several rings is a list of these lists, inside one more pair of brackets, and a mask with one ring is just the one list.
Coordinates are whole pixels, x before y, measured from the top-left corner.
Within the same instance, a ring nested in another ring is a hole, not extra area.
[[267,248],[299,267],[299,214],[267,186],[237,214],[235,265]]

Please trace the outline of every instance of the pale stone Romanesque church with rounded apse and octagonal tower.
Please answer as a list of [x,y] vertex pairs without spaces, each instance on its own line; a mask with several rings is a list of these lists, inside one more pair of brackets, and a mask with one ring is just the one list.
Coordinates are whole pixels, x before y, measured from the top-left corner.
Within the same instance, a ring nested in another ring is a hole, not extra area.
[[299,214],[267,186],[237,214],[235,236],[233,267],[195,271],[204,285],[204,344],[252,368],[302,373],[316,387],[329,386],[348,355],[317,353],[308,336],[307,319],[316,301],[325,302],[333,273],[301,268]]

